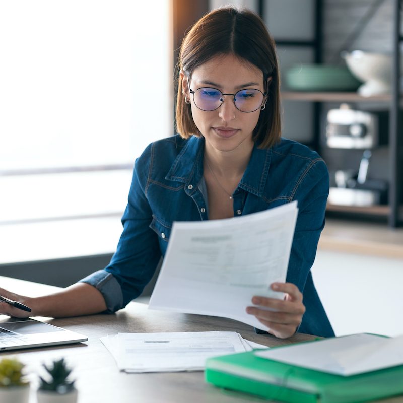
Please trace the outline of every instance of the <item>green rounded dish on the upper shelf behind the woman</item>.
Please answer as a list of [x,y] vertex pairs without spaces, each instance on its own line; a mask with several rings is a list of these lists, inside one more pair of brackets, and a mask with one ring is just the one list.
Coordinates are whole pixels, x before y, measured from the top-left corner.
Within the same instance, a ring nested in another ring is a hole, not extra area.
[[356,91],[361,82],[347,66],[298,64],[285,73],[287,87],[296,91]]

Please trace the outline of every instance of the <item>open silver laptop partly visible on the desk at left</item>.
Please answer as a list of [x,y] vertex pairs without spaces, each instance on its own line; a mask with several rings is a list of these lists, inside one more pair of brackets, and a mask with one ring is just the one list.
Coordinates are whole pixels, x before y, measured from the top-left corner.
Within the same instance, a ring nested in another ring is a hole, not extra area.
[[80,343],[88,338],[31,318],[0,315],[0,351]]

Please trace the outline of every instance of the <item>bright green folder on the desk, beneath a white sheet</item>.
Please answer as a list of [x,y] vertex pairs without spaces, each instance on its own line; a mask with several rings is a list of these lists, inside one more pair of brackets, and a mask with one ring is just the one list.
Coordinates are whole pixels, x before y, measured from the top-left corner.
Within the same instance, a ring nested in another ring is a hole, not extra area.
[[359,403],[403,393],[403,365],[341,376],[258,357],[253,351],[209,358],[205,377],[218,387],[290,403]]

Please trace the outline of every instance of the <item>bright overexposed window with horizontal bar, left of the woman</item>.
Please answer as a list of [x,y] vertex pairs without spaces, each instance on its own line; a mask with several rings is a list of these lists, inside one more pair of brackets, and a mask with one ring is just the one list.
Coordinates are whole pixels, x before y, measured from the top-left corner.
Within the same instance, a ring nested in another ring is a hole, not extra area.
[[169,1],[0,2],[0,227],[121,215],[173,133],[171,31]]

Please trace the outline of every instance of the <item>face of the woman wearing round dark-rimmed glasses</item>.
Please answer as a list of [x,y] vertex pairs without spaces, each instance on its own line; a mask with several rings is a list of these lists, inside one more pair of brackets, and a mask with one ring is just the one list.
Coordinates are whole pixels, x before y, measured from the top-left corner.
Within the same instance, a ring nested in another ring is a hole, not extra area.
[[[190,98],[194,123],[206,139],[206,147],[229,152],[253,147],[252,133],[260,115],[260,107],[254,112],[241,112],[234,105],[234,97],[224,96],[224,103],[216,110],[204,111],[194,104],[186,76],[181,73],[183,91]],[[196,68],[189,78],[190,89],[213,87],[222,93],[254,88],[264,92],[263,73],[256,66],[241,62],[233,55],[216,56]]]

